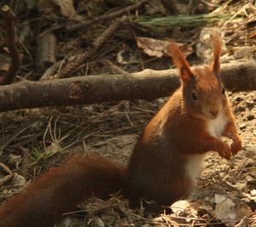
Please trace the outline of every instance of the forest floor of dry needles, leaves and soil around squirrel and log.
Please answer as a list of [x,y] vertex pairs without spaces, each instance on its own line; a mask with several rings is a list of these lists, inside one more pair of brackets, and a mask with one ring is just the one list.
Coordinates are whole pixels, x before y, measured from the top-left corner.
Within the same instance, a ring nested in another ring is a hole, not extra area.
[[[132,1],[66,1],[74,4],[73,9],[57,5],[61,1],[35,2],[13,1],[11,5],[18,18],[16,26],[22,58],[19,78],[15,82],[22,79],[40,80],[49,65],[86,51],[112,23],[111,19],[101,20],[90,26],[89,30],[81,27],[77,31],[66,31],[65,27],[74,24],[73,20],[67,19],[73,10],[78,15],[75,20],[81,22],[115,12]],[[120,2],[124,5],[120,5]],[[171,9],[167,9],[163,2],[166,1],[148,1],[137,9],[137,14],[150,16],[151,19],[160,14],[172,15],[169,12]],[[256,59],[253,31],[256,22],[255,1],[178,2],[181,3],[172,6],[177,14],[198,14],[202,10],[201,14],[216,11],[218,14],[236,14],[239,18],[194,27],[189,23],[189,27],[184,26],[188,21],[178,26],[158,28],[154,23],[149,27],[131,23],[116,31],[94,56],[79,65],[79,70],[74,71],[73,76],[173,67],[165,54],[156,56],[147,50],[150,56],[145,54],[137,47],[137,37],[165,41],[170,41],[172,37],[171,40],[183,45],[189,62],[201,63],[209,59],[209,54],[205,53],[210,53],[211,57],[208,41],[201,38],[203,27],[212,29],[213,26],[224,34],[226,44],[221,59],[223,63],[236,64],[237,61]],[[195,3],[188,4],[190,2]],[[53,46],[56,54],[49,59],[49,65],[42,64],[38,57],[38,50],[40,52],[42,47],[38,47],[39,44],[35,47],[34,44],[45,31],[54,31],[57,40]],[[9,67],[9,56],[2,30],[0,48],[0,71],[3,72]],[[172,212],[169,207],[163,207],[160,213],[147,213],[143,203],[139,209],[131,209],[128,201],[117,194],[108,201],[97,198],[84,201],[79,205],[79,212],[69,213],[58,226],[256,226],[256,91],[229,91],[227,94],[241,134],[242,150],[228,162],[209,152],[204,172],[195,189],[172,204]],[[22,190],[49,167],[77,152],[96,152],[109,157],[113,162],[127,164],[143,128],[165,101],[166,98],[152,101],[137,99],[0,113],[0,202]]]

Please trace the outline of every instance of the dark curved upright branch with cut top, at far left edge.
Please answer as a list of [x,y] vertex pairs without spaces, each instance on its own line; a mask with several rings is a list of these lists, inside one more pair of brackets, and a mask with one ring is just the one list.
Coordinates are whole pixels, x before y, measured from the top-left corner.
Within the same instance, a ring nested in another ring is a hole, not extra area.
[[6,31],[6,45],[9,49],[9,55],[11,57],[9,71],[0,77],[0,85],[6,85],[13,81],[17,71],[19,70],[20,54],[16,47],[15,14],[7,5],[3,6],[2,12],[3,27]]

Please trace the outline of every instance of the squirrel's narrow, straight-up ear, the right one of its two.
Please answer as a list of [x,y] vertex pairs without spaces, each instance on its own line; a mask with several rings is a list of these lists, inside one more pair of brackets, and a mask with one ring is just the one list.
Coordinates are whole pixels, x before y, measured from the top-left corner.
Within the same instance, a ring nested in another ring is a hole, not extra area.
[[219,58],[221,53],[221,45],[222,45],[221,38],[219,37],[219,34],[216,31],[214,32],[214,34],[212,34],[212,48],[213,48],[212,71],[215,73],[215,75],[218,75],[220,70]]

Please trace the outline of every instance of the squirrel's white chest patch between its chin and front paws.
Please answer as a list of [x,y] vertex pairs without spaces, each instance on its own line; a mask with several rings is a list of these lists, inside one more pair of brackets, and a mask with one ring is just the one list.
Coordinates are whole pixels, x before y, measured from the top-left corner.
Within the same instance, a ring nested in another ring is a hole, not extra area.
[[227,121],[228,121],[228,119],[226,116],[224,116],[224,113],[221,113],[215,119],[209,120],[207,122],[208,133],[210,133],[213,137],[220,138],[221,134],[224,131],[224,127],[225,127]]

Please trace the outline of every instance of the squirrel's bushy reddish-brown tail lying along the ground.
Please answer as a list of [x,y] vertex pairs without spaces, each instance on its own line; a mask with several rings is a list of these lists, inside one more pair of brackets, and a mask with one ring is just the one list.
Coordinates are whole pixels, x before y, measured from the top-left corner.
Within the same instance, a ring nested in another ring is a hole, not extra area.
[[54,226],[84,198],[106,197],[124,187],[123,167],[102,156],[73,156],[0,207],[0,226]]

